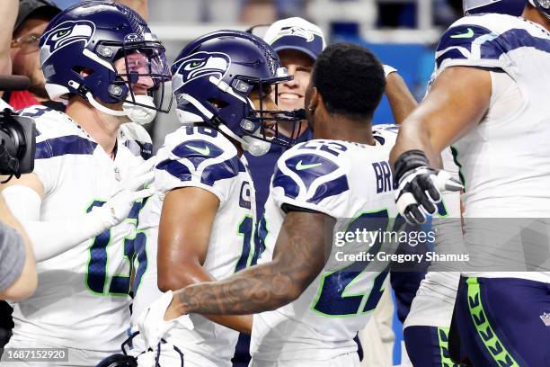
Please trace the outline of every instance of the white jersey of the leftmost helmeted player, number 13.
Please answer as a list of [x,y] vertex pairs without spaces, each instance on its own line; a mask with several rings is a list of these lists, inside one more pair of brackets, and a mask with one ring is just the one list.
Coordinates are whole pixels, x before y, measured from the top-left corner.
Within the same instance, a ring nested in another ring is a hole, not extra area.
[[[134,123],[120,127],[113,160],[65,113],[32,106],[22,114],[36,121],[34,174],[44,186],[43,221],[75,218],[101,206],[129,168],[151,155],[151,139]],[[29,341],[109,354],[120,350],[130,317],[129,259],[140,208],[137,202],[120,225],[37,264],[39,287],[13,306],[9,346]]]

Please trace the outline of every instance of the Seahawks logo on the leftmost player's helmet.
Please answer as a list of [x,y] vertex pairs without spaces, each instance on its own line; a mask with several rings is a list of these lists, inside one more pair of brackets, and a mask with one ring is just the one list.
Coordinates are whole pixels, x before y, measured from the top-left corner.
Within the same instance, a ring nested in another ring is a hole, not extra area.
[[84,42],[88,45],[95,32],[95,24],[90,21],[67,21],[58,24],[53,30],[42,36],[43,44],[40,47],[40,60],[44,62],[58,49],[63,49],[75,42]]

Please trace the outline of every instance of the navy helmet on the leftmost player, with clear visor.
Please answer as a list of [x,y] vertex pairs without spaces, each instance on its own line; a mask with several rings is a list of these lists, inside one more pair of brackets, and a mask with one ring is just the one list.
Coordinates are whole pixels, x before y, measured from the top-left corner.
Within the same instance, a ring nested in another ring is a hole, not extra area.
[[[59,13],[40,38],[40,65],[52,100],[77,94],[102,112],[141,123],[172,103],[164,98],[170,71],[163,44],[122,4],[87,1]],[[104,103],[123,103],[123,110]]]

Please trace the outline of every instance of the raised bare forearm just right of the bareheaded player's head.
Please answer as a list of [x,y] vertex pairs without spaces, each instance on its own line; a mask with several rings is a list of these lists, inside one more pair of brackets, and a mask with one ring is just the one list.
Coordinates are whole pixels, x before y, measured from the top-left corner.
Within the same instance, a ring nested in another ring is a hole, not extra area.
[[386,96],[397,124],[402,123],[418,106],[403,77],[397,73],[386,76]]

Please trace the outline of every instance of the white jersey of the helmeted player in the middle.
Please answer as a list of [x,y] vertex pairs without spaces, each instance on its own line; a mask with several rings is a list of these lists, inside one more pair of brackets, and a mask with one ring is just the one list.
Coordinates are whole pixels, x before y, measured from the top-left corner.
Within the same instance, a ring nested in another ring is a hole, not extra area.
[[[164,147],[157,153],[157,192],[140,214],[133,318],[160,295],[156,285],[160,213],[164,194],[180,187],[200,187],[215,194],[220,201],[203,265],[208,273],[216,279],[224,279],[253,260],[253,183],[235,146],[217,130],[182,127],[166,136]],[[185,364],[230,366],[238,333],[198,314],[192,314],[191,319],[195,326],[192,331],[173,329],[167,338],[182,350]]]

